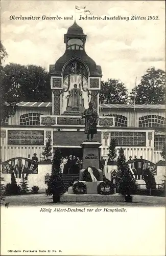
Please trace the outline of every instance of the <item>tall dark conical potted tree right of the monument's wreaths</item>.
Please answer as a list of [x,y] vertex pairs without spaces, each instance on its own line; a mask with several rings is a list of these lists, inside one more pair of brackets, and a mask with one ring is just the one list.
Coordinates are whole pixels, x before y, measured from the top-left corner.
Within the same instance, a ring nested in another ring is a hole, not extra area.
[[122,147],[119,151],[117,166],[118,172],[116,178],[116,187],[118,193],[125,196],[125,202],[132,202],[132,195],[137,191],[137,184],[132,173],[130,172],[128,165],[126,164],[126,158]]

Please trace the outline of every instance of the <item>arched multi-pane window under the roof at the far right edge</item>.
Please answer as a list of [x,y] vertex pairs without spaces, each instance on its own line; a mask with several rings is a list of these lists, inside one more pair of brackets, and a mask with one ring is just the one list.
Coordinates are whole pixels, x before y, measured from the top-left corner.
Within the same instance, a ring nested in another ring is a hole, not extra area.
[[165,118],[157,115],[141,116],[139,127],[165,127]]

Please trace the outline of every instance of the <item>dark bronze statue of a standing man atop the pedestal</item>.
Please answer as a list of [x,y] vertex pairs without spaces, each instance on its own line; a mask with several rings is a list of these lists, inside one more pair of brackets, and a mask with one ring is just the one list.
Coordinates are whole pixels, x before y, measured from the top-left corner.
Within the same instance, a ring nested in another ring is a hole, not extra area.
[[82,118],[85,118],[85,134],[87,136],[87,141],[93,140],[93,135],[97,134],[97,124],[99,121],[98,112],[93,108],[93,104],[89,102],[89,108],[86,109],[82,115]]

